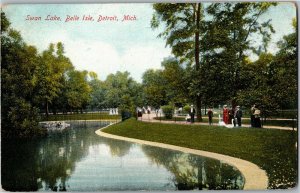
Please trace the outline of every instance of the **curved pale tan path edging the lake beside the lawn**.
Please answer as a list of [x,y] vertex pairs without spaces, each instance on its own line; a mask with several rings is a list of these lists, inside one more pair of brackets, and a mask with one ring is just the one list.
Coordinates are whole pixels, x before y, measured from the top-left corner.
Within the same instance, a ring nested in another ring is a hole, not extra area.
[[249,161],[238,159],[235,157],[230,157],[227,155],[218,154],[218,153],[212,153],[212,152],[208,152],[208,151],[202,151],[202,150],[179,147],[179,146],[169,145],[169,144],[164,144],[164,143],[144,141],[144,140],[140,140],[140,139],[112,135],[109,133],[102,132],[101,131],[102,129],[103,128],[97,130],[95,133],[102,137],[113,138],[113,139],[118,139],[118,140],[123,140],[123,141],[129,141],[129,142],[139,143],[139,144],[144,144],[144,145],[156,146],[156,147],[161,147],[161,148],[166,148],[166,149],[172,149],[172,150],[177,150],[177,151],[181,151],[184,153],[190,153],[190,154],[200,155],[200,156],[224,161],[227,164],[236,167],[242,173],[242,175],[245,178],[244,190],[265,190],[268,188],[268,176],[267,176],[266,172],[264,170],[260,169],[257,165],[255,165]]

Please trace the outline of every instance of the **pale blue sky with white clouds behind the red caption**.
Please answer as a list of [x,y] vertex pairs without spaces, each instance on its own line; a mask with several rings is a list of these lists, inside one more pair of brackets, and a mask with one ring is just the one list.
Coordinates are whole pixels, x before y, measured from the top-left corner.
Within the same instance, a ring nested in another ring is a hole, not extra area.
[[[171,56],[165,40],[157,35],[163,28],[153,30],[150,3],[123,4],[15,4],[2,6],[11,27],[20,31],[26,43],[41,52],[50,43],[62,42],[65,55],[77,70],[94,71],[105,80],[110,73],[128,71],[141,82],[143,73],[150,68],[161,68],[164,58]],[[40,21],[26,20],[27,16],[41,17]],[[61,21],[47,21],[46,17],[60,17]],[[67,16],[78,16],[78,21],[65,22]],[[83,16],[94,21],[82,21]],[[118,18],[118,21],[99,21],[99,16]],[[124,15],[136,20],[123,21]],[[280,3],[272,7],[262,20],[272,19],[276,31],[272,35],[269,51],[278,51],[276,42],[292,33],[292,18],[296,7]],[[259,41],[259,40],[257,40]]]

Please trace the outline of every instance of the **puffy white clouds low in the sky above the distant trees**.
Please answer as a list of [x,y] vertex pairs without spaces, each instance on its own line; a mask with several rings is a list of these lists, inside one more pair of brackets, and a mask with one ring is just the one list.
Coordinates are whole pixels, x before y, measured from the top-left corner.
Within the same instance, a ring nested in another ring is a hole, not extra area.
[[79,70],[94,71],[101,80],[110,73],[128,71],[131,76],[141,81],[142,74],[149,68],[160,68],[163,58],[170,55],[170,50],[161,45],[137,44],[125,47],[122,54],[111,44],[94,41],[64,40],[66,55]]

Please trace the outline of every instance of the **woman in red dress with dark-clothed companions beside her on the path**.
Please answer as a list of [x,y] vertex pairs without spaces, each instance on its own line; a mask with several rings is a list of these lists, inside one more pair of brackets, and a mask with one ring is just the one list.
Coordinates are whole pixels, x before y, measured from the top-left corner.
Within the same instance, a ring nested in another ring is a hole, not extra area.
[[240,106],[236,106],[235,108],[228,109],[227,105],[223,107],[223,122],[227,124],[232,124],[234,127],[238,125],[242,126],[242,116],[243,112]]

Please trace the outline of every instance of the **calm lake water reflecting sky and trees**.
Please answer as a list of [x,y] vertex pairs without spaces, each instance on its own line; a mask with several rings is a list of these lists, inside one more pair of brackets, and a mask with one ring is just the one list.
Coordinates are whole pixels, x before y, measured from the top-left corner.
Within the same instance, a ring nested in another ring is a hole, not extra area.
[[218,160],[95,134],[107,124],[73,123],[43,139],[2,140],[2,188],[84,192],[243,188],[241,173]]

